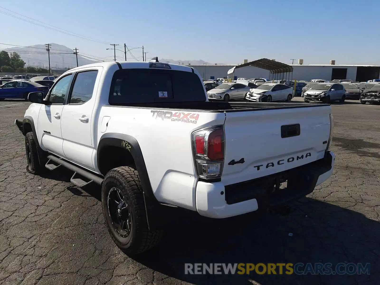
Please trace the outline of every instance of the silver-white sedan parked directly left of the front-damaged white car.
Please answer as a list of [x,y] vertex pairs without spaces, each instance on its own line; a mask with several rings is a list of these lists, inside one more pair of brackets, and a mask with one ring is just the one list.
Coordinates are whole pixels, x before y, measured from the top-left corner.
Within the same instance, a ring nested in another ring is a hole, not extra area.
[[250,87],[241,83],[223,83],[207,92],[209,100],[230,101],[230,99],[244,99]]

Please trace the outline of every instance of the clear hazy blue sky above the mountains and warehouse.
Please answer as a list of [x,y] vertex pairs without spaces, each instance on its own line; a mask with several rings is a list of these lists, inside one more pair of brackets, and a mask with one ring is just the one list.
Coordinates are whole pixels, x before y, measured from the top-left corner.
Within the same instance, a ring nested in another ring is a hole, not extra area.
[[[6,9],[96,41],[60,33]],[[378,0],[1,0],[0,43],[57,43],[113,58],[109,44],[144,46],[154,56],[241,63],[262,57],[304,64],[380,64]],[[0,48],[5,48],[0,44]],[[124,54],[116,51],[120,59]],[[142,57],[142,50],[133,50]]]

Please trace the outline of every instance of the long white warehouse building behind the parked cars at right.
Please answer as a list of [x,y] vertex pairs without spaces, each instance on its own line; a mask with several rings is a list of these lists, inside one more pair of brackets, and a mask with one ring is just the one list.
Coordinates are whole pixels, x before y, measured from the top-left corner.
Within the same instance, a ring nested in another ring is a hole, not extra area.
[[[216,78],[228,78],[228,70],[234,68],[233,78],[268,78],[271,79],[273,74],[270,70],[265,70],[259,68],[255,65],[255,62],[260,60],[255,60],[254,62],[247,62],[241,65],[192,65],[193,68],[198,70],[204,79],[216,79]],[[261,61],[268,61],[268,59],[261,59]],[[299,60],[302,63],[301,60]],[[380,66],[379,65],[335,65],[334,61],[331,60],[332,64],[322,65],[288,65],[293,69],[291,73],[291,78],[297,80],[311,79],[351,79],[354,81],[367,81],[370,79],[380,78]],[[285,75],[283,75],[285,78]],[[289,76],[289,75],[288,75]]]

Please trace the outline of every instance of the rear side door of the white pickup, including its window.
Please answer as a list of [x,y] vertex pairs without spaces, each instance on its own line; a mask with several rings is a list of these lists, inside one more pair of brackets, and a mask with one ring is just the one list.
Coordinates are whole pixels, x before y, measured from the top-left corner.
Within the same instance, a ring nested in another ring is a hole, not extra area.
[[[100,72],[99,72],[100,74]],[[92,163],[93,108],[98,86],[98,70],[76,73],[68,103],[62,112],[62,138],[65,156],[81,166],[95,169]]]

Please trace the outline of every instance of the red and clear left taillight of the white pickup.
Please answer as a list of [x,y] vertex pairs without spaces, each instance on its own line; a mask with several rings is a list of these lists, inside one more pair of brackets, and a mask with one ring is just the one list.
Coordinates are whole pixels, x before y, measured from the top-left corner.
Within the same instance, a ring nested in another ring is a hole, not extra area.
[[204,179],[219,178],[222,175],[224,162],[223,125],[194,131],[192,142],[198,176]]

